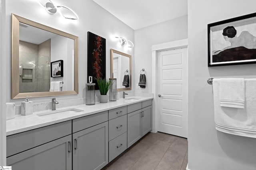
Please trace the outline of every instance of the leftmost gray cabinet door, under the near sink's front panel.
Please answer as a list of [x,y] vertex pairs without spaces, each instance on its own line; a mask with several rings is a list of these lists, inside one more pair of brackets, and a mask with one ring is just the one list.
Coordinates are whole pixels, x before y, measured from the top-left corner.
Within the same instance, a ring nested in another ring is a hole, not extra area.
[[26,150],[6,159],[15,170],[72,170],[72,135]]

